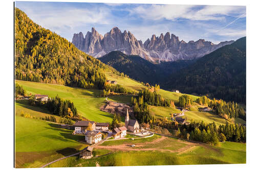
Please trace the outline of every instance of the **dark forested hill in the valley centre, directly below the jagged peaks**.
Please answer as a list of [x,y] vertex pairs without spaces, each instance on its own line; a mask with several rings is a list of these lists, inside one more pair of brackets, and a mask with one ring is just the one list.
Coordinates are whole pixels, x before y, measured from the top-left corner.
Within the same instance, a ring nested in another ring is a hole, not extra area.
[[194,60],[180,60],[153,64],[138,55],[126,55],[119,51],[110,52],[98,59],[137,81],[152,85],[159,84],[171,73],[195,62]]

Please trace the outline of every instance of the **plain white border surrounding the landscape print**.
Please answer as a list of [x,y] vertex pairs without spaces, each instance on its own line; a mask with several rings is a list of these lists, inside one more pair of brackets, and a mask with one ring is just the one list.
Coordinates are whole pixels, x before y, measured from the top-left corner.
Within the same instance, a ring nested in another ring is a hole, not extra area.
[[[39,0],[44,1],[44,0]],[[50,2],[50,1],[47,1]],[[51,2],[95,2],[95,1],[51,1]],[[179,1],[163,1],[163,0],[129,0],[129,1],[99,1],[98,3],[140,3],[140,4],[193,4],[193,5],[243,5],[247,8],[247,163],[246,164],[230,164],[230,165],[173,165],[173,166],[122,166],[122,167],[86,167],[87,169],[241,169],[255,167],[255,1],[203,1],[203,0],[179,0]],[[13,168],[13,134],[7,133],[7,127],[13,130],[13,2],[1,1],[1,168]],[[36,168],[37,169],[37,168]],[[56,169],[56,168],[52,168]],[[68,168],[77,169],[77,168]]]

